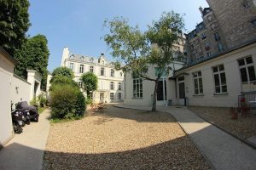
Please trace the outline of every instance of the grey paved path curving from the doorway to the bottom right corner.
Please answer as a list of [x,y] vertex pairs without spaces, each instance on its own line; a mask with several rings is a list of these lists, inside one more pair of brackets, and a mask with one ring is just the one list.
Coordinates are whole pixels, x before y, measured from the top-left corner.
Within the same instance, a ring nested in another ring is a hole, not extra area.
[[[151,107],[137,107],[115,105],[122,108],[131,108],[150,111]],[[256,169],[256,150],[234,138],[219,128],[205,122],[199,116],[185,107],[157,106],[157,111],[172,114],[183,130],[189,134],[213,169]]]

